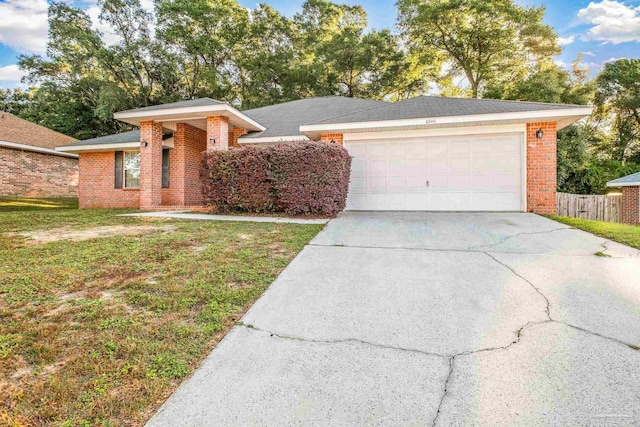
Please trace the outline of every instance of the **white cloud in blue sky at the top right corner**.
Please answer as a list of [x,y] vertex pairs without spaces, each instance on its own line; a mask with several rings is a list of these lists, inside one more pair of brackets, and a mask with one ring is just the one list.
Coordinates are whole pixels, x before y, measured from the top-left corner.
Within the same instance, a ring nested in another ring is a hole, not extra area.
[[592,25],[585,34],[586,40],[613,44],[640,41],[640,7],[614,0],[591,2],[580,9],[578,19]]

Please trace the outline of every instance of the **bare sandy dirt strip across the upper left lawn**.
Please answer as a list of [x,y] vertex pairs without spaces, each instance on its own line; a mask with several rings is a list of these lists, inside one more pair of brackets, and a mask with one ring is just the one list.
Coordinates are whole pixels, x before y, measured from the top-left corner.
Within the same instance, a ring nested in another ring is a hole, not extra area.
[[27,239],[27,244],[42,245],[45,243],[57,242],[59,240],[72,240],[75,242],[79,242],[82,240],[100,239],[114,236],[145,236],[155,233],[171,233],[174,230],[174,225],[111,225],[87,228],[84,230],[77,230],[71,227],[60,227],[52,228],[50,230],[23,231],[20,233],[11,233],[10,235],[25,237]]

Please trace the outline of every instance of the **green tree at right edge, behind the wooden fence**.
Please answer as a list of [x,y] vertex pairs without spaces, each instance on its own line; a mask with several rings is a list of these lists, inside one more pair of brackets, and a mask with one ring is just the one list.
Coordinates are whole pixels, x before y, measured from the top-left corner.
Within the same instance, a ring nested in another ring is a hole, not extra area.
[[612,131],[604,149],[612,158],[624,161],[640,151],[640,60],[605,64],[596,86],[596,115],[609,119]]

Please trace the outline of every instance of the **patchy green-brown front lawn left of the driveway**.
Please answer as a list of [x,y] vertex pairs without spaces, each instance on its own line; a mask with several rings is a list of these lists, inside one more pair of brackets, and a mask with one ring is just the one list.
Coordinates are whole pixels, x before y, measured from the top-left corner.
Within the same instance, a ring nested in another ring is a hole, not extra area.
[[322,227],[117,213],[0,213],[0,425],[142,425]]

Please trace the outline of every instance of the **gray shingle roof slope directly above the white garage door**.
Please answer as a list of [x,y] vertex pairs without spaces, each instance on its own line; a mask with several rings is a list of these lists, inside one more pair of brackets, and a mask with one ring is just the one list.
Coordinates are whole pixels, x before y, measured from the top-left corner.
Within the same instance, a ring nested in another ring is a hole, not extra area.
[[305,124],[353,123],[379,120],[402,120],[432,117],[468,116],[476,114],[516,113],[523,111],[584,108],[584,105],[547,104],[541,102],[503,101],[494,99],[446,98],[418,96],[405,101],[308,121]]

